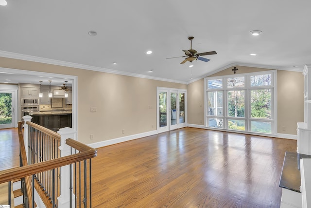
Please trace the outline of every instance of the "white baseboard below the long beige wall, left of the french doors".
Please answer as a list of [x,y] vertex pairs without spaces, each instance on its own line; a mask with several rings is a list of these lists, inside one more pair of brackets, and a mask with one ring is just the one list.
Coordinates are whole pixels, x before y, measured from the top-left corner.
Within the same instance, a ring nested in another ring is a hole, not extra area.
[[156,130],[151,131],[151,132],[143,132],[143,133],[133,134],[133,135],[129,135],[129,136],[123,136],[123,137],[115,138],[115,139],[109,139],[109,140],[91,143],[91,144],[87,144],[87,145],[92,147],[92,148],[100,148],[100,147],[105,147],[108,145],[113,145],[113,144],[118,144],[121,142],[130,141],[133,139],[139,139],[139,138],[146,137],[146,136],[152,136],[155,134],[157,134]]

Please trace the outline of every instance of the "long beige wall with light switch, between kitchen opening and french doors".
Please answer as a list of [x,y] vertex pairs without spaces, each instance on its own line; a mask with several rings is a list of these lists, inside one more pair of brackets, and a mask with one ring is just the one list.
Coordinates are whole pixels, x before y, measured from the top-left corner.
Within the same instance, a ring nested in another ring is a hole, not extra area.
[[156,130],[156,87],[187,89],[185,84],[4,57],[0,67],[77,76],[78,139],[86,144]]

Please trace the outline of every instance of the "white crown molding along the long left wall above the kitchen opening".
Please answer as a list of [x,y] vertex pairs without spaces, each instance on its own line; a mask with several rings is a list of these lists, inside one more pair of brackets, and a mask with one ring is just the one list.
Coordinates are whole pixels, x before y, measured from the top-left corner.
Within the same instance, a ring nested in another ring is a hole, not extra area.
[[147,75],[140,75],[136,73],[130,73],[130,72],[124,72],[124,71],[118,71],[113,69],[106,69],[102,67],[95,67],[95,66],[89,66],[84,64],[77,64],[67,61],[60,61],[50,58],[43,58],[43,57],[35,57],[35,56],[29,56],[24,54],[17,54],[13,52],[7,52],[7,51],[0,51],[0,57],[6,57],[6,58],[15,58],[25,61],[34,61],[39,63],[46,63],[46,64],[52,64],[52,65],[58,65],[58,66],[65,66],[65,67],[71,67],[71,68],[78,68],[78,69],[85,69],[90,71],[97,71],[97,72],[105,72],[110,74],[116,74],[116,75],[124,75],[124,76],[133,76],[138,78],[146,78],[146,79],[153,79],[157,81],[166,81],[166,82],[173,82],[173,83],[179,83],[179,84],[187,84],[185,81],[179,81],[174,79],[166,79],[166,78],[160,78],[155,76],[147,76]]

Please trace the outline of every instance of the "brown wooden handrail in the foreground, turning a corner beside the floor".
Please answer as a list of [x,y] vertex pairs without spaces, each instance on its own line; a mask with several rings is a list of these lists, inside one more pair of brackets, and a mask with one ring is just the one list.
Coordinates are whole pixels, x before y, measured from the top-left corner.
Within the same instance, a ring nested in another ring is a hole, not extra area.
[[[30,122],[31,123],[31,122]],[[29,124],[27,122],[27,124]],[[37,127],[35,127],[37,128]],[[46,132],[46,130],[44,129]],[[79,153],[72,154],[65,157],[59,157],[49,161],[44,161],[40,163],[35,163],[23,167],[12,168],[8,170],[0,171],[0,184],[15,179],[23,178],[29,175],[33,175],[38,172],[52,170],[62,166],[66,166],[79,161],[87,160],[96,157],[97,150],[93,149],[81,142],[75,141],[73,139],[67,139],[66,144],[80,151]]]

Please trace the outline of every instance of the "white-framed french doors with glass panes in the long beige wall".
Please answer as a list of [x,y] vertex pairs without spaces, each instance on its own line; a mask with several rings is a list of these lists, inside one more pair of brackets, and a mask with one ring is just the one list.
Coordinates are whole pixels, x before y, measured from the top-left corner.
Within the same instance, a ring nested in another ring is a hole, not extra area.
[[157,88],[157,130],[166,132],[186,127],[187,91]]

